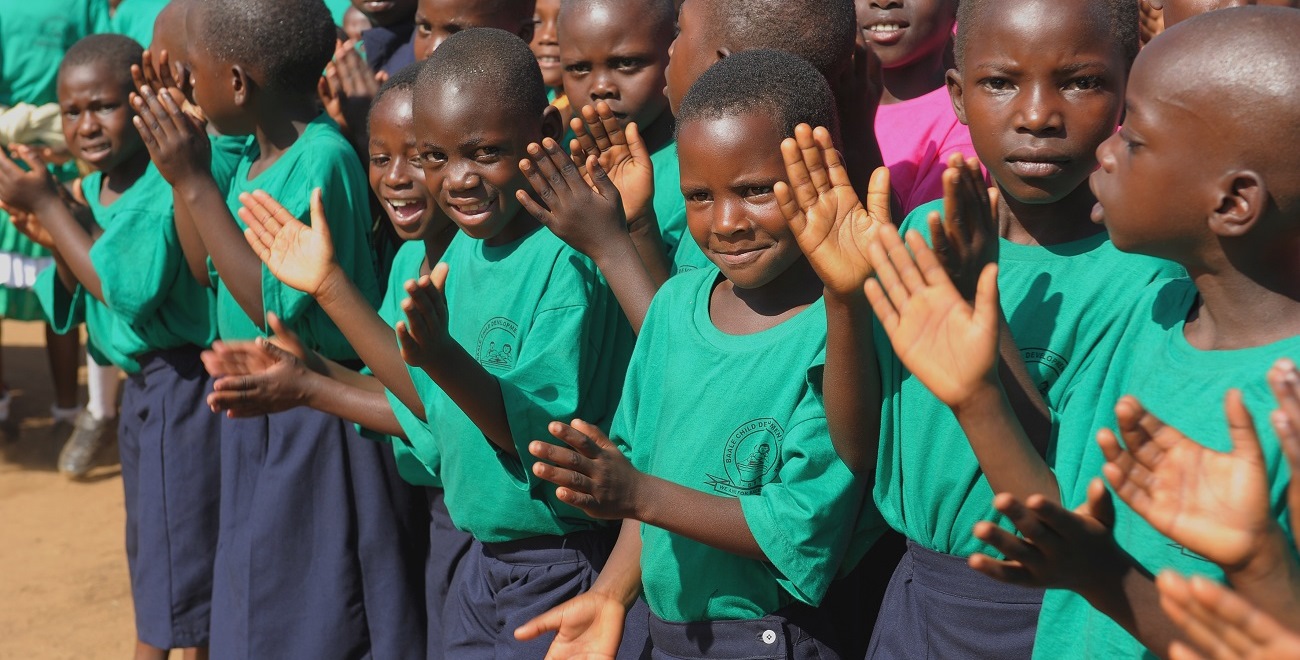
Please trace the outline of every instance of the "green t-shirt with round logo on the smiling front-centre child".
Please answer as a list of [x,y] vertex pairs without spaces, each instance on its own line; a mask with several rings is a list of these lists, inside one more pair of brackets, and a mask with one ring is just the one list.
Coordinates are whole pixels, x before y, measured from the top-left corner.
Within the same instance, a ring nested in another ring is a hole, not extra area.
[[[822,403],[826,305],[819,300],[762,333],[728,335],[708,317],[720,277],[697,270],[659,290],[611,438],[647,474],[737,498],[770,561],[642,525],[645,599],[668,621],[758,618],[794,600],[816,605],[850,538],[868,534],[870,543],[884,530],[866,482],[831,444]],[[855,533],[849,521],[859,511]]]

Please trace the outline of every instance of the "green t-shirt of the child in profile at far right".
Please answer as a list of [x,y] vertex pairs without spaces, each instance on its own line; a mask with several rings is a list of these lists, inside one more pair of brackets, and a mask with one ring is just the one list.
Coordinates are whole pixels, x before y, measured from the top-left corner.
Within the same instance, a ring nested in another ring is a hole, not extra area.
[[[1231,450],[1223,396],[1242,390],[1243,400],[1260,431],[1273,514],[1291,535],[1286,489],[1291,481],[1286,455],[1269,416],[1277,400],[1265,374],[1280,357],[1300,359],[1300,338],[1240,351],[1199,351],[1187,343],[1184,326],[1196,304],[1196,286],[1190,279],[1157,282],[1132,305],[1123,340],[1110,360],[1102,392],[1095,400],[1079,400],[1065,409],[1062,443],[1087,447],[1080,476],[1063,485],[1066,504],[1086,499],[1088,482],[1101,476],[1105,463],[1093,438],[1100,429],[1115,429],[1114,403],[1121,395],[1138,396],[1157,417],[1187,433],[1201,444],[1221,452]],[[1200,574],[1223,581],[1223,572],[1205,559],[1158,534],[1122,500],[1115,503],[1115,540],[1147,570],[1165,569],[1183,576]],[[1292,548],[1294,550],[1294,548]],[[1092,609],[1070,591],[1049,590],[1043,602],[1035,657],[1156,657],[1118,624]]]

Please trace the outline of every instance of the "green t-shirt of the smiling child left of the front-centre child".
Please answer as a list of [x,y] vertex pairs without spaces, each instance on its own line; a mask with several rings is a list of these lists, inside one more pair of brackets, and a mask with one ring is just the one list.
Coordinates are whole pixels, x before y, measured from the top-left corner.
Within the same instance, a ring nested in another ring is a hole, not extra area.
[[532,440],[558,442],[555,420],[608,429],[619,400],[630,327],[595,265],[546,229],[497,247],[459,234],[443,261],[448,331],[500,383],[519,451],[497,451],[432,381],[415,383],[456,527],[491,543],[606,526],[555,499],[528,453]]

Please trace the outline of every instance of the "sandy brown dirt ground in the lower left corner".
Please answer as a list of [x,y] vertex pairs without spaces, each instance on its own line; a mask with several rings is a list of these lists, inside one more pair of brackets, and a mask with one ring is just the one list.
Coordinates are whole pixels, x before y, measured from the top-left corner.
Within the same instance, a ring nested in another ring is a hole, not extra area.
[[69,430],[51,425],[44,329],[4,321],[3,344],[14,399],[9,442],[0,440],[0,660],[130,657],[116,456],[84,482],[61,477],[55,461]]

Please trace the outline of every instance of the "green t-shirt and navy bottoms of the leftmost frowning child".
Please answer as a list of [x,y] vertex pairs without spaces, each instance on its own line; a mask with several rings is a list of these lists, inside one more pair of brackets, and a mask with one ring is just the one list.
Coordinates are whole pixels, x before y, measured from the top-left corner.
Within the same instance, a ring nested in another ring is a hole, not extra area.
[[101,184],[101,173],[82,182],[104,230],[90,249],[104,300],[81,286],[69,292],[55,269],[36,292],[56,331],[84,320],[104,357],[127,373],[118,443],[136,637],[157,648],[207,646],[220,418],[207,407],[199,351],[214,336],[214,300],[185,264],[172,187],[157,169],[107,207]]

